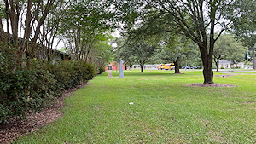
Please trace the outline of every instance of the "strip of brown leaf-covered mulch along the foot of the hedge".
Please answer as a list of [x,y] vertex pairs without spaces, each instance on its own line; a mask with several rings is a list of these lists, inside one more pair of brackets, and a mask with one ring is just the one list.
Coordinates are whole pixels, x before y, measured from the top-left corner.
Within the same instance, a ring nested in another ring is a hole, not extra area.
[[[91,84],[88,82],[87,84]],[[67,90],[62,97],[58,98],[52,107],[44,109],[40,113],[32,113],[26,116],[26,120],[20,122],[18,118],[14,118],[2,125],[0,129],[0,143],[13,142],[15,138],[26,135],[44,126],[54,122],[62,117],[61,107],[65,106],[64,99],[78,90],[84,88],[84,85],[79,85],[75,89]],[[1,125],[0,125],[1,126]]]

